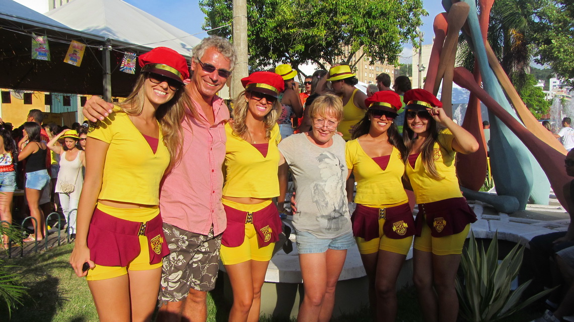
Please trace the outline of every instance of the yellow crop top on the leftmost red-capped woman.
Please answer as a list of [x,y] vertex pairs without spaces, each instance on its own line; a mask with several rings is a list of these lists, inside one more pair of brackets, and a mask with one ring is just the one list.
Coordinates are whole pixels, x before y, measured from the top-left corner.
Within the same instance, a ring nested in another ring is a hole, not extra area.
[[155,154],[127,114],[117,108],[94,129],[90,127],[88,137],[110,144],[98,199],[159,205],[160,182],[169,165],[161,127]]

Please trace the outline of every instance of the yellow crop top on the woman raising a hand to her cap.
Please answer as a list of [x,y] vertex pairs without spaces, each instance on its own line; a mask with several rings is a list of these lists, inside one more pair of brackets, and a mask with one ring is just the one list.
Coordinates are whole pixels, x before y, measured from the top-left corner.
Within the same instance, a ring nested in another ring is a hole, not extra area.
[[406,175],[409,176],[417,203],[440,201],[449,198],[462,197],[459,187],[459,179],[456,177],[455,156],[452,150],[454,136],[449,129],[439,133],[438,141],[435,142],[433,160],[436,171],[442,180],[431,178],[422,166],[422,156],[418,155],[414,163],[414,169],[406,163]]

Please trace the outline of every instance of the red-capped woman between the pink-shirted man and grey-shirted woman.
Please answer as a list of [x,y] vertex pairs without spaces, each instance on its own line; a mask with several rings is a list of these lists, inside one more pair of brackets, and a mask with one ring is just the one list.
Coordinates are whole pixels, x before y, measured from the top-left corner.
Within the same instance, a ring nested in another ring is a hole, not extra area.
[[280,189],[277,96],[284,80],[276,73],[255,72],[241,83],[245,91],[235,99],[234,121],[225,126],[222,202],[227,228],[220,252],[233,292],[229,321],[258,321],[261,288],[281,231],[272,198]]

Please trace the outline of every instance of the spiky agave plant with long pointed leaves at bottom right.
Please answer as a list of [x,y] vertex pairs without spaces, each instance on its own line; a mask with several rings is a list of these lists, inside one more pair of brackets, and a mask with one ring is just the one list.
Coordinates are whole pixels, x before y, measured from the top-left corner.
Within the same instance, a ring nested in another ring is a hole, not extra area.
[[532,280],[511,290],[512,281],[518,276],[522,265],[523,253],[524,246],[517,244],[498,262],[498,232],[494,234],[488,250],[484,253],[484,247],[479,250],[471,231],[469,246],[460,261],[464,278],[458,277],[456,280],[459,314],[464,320],[497,321],[552,292],[552,289],[544,290],[521,301],[522,293]]

